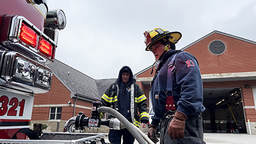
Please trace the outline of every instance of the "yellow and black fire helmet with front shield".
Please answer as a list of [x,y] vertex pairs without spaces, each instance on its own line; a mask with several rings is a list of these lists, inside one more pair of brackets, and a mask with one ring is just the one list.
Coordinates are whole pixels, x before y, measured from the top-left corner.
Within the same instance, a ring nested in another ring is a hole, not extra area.
[[158,40],[163,39],[164,41],[171,41],[172,43],[177,43],[178,40],[181,39],[181,33],[178,31],[169,32],[162,28],[155,28],[155,30],[148,30],[144,32],[146,44],[146,51],[150,51],[152,48],[151,46],[158,42]]

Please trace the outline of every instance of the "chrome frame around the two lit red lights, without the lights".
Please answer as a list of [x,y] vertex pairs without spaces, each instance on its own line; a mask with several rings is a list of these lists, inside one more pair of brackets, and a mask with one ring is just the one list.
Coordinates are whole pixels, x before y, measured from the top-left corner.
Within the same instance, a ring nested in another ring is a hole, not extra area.
[[30,21],[22,16],[15,16],[12,18],[8,39],[3,41],[3,44],[9,49],[23,53],[24,55],[29,56],[31,59],[37,60],[39,63],[52,63],[54,60],[52,58],[53,56],[45,56],[43,55],[43,53],[39,52],[40,39],[37,40],[37,46],[35,48],[29,46],[28,44],[25,44],[23,41],[20,40],[22,23],[34,30],[39,37],[43,37],[45,40],[51,43],[53,49],[56,49],[57,46],[55,41],[46,36],[46,34],[40,31],[39,28],[35,27],[32,23],[30,23]]

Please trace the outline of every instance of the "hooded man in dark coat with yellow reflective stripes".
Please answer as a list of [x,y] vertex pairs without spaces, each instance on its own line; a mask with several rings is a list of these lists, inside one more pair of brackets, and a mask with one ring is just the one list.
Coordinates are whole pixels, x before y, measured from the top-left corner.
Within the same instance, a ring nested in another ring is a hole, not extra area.
[[[149,121],[147,99],[142,89],[135,82],[132,69],[129,66],[123,66],[119,71],[116,82],[111,84],[101,97],[101,102],[103,106],[112,107],[119,111],[135,126],[139,127],[141,122],[144,128]],[[135,141],[135,138],[127,129],[110,129],[108,139],[111,143],[117,144],[121,143],[121,136],[123,136],[124,144]]]

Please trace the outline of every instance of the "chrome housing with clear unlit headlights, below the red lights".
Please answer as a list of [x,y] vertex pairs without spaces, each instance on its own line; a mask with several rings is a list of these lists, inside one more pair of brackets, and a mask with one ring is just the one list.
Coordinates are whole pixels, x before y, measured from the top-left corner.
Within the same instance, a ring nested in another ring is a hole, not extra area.
[[12,51],[2,52],[1,59],[0,86],[34,94],[50,91],[52,71],[46,66]]

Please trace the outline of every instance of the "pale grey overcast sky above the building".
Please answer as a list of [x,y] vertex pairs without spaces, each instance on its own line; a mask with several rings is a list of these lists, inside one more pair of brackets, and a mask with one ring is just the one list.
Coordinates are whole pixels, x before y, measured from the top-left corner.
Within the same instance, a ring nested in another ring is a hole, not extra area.
[[143,32],[180,31],[182,49],[214,30],[256,41],[254,0],[47,0],[65,12],[56,59],[94,79],[117,78],[122,66],[142,71],[155,62]]

